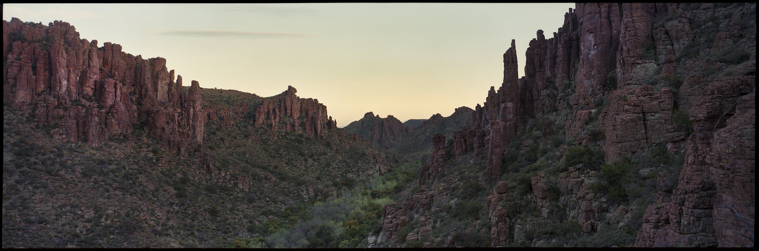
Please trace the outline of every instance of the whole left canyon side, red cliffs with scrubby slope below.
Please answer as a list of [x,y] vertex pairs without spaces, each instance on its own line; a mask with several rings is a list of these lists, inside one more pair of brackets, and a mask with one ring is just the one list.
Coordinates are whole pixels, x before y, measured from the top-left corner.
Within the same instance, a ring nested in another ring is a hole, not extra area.
[[165,59],[60,21],[3,31],[4,248],[229,246],[396,165],[291,86],[266,98],[183,86]]

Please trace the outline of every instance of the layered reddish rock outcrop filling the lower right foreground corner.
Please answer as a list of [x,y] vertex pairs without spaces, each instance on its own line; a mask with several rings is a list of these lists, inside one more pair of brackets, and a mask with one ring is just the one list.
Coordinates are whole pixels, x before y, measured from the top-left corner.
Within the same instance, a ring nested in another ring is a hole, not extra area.
[[755,86],[753,76],[743,76],[703,87],[691,107],[694,133],[685,143],[679,183],[674,190],[660,186],[664,191],[646,209],[636,246],[745,245],[740,234],[753,226],[735,217],[754,217],[747,202],[754,198],[754,171],[746,167],[754,166]]

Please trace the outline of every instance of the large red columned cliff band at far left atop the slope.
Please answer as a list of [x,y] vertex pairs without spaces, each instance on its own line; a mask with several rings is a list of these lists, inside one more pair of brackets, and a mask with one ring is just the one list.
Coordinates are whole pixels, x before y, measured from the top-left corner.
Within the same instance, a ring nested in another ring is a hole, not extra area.
[[96,146],[113,136],[132,141],[132,130],[145,130],[167,152],[186,155],[202,146],[200,94],[193,87],[183,93],[164,58],[143,59],[110,42],[98,47],[58,20],[3,20],[3,41],[4,102],[36,109],[38,124],[57,125],[53,136]]

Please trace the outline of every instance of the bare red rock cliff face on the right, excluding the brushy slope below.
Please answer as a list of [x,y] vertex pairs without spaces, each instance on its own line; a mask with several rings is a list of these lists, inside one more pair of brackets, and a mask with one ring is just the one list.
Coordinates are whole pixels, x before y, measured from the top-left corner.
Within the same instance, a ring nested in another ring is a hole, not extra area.
[[[742,18],[755,5],[701,4],[689,11],[684,6],[578,3],[553,38],[537,31],[519,80],[512,42],[502,86],[491,87],[472,115],[472,127],[487,135],[483,152],[490,182],[501,176],[503,147],[530,116],[571,111],[561,121],[566,138],[578,145],[591,143],[586,128],[598,116],[604,137],[596,142],[607,162],[657,144],[685,152],[678,186],[660,188],[636,246],[745,243],[742,234],[753,223],[739,217],[754,219],[754,169],[745,167],[754,166],[754,123],[748,118],[754,114],[756,42]],[[714,21],[720,18],[725,20]],[[707,27],[720,30],[709,35]],[[693,54],[698,45],[704,47]],[[730,50],[748,56],[720,58]],[[562,93],[571,96],[568,107],[559,105]],[[608,105],[598,111],[597,100],[603,99]],[[693,133],[675,121],[682,114],[689,115]]]

